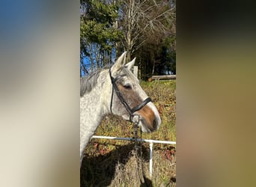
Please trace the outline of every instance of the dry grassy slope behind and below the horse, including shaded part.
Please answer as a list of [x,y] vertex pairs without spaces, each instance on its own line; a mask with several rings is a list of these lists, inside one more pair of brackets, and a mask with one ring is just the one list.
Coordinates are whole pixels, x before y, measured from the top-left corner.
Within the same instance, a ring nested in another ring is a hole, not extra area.
[[[176,141],[176,80],[141,82],[162,119],[157,132],[143,133],[142,138]],[[106,116],[96,135],[131,138],[133,125],[120,117]],[[142,144],[138,165],[134,143],[93,139],[85,150],[81,167],[81,186],[175,186],[176,149],[168,144],[153,144],[153,177],[149,177],[149,145]],[[139,167],[138,167],[139,166]],[[139,169],[138,169],[139,168]],[[143,171],[142,172],[142,168]],[[145,178],[143,179],[142,173]]]

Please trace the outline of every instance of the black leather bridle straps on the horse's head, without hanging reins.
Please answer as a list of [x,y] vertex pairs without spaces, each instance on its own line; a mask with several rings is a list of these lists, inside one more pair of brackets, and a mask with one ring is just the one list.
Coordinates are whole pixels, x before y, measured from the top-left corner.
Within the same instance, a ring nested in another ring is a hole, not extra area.
[[[115,79],[114,77],[112,77],[112,74],[111,74],[111,67],[109,68],[109,76],[110,76],[110,79],[111,79],[111,82],[112,82],[112,96],[111,96],[111,103],[110,103],[110,111],[112,113],[112,102],[113,102],[113,94],[114,94],[114,90],[115,90],[115,93],[117,94],[119,100],[122,102],[122,104],[124,105],[124,108],[127,109],[128,113],[129,113],[129,121],[131,122],[134,122],[133,121],[133,117],[135,116],[133,113],[135,111],[138,111],[140,110],[141,108],[144,107],[144,105],[147,105],[147,102],[150,102],[151,99],[149,97],[147,97],[147,99],[144,99],[143,102],[141,102],[141,104],[139,104],[138,106],[134,107],[134,108],[130,108],[129,105],[127,104],[127,102],[125,101],[124,99],[124,96],[122,96],[122,93],[119,91],[118,89],[118,85],[115,83],[118,79],[120,79],[121,77],[125,76],[125,75],[120,75],[120,76],[117,76]],[[139,117],[136,117],[136,118],[139,118]]]

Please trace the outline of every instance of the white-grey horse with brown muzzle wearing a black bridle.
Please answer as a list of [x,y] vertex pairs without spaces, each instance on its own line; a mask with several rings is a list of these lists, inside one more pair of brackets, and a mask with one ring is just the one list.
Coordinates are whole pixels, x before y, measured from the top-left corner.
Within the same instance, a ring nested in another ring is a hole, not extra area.
[[125,64],[126,53],[112,67],[80,79],[80,166],[85,147],[107,114],[137,119],[142,132],[159,129],[159,112],[131,72],[135,58]]

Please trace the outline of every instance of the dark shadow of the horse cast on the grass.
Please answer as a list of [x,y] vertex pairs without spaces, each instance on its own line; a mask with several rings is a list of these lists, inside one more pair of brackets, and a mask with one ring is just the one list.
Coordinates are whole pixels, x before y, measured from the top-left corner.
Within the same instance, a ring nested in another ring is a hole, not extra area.
[[[142,145],[141,149],[142,159],[148,162],[147,148]],[[109,186],[115,177],[115,166],[118,164],[126,165],[130,156],[132,156],[132,150],[134,150],[134,144],[127,144],[116,147],[115,150],[104,155],[85,155],[80,168],[80,186]],[[152,186],[149,179],[146,179],[146,181],[141,186]]]

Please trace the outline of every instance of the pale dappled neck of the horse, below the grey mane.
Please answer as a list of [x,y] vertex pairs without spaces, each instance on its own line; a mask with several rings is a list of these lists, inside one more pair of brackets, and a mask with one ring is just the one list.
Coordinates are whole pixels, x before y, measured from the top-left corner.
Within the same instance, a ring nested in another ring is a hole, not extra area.
[[83,150],[90,141],[101,120],[109,114],[111,100],[111,81],[108,73],[103,72],[97,85],[80,98],[80,165]]

